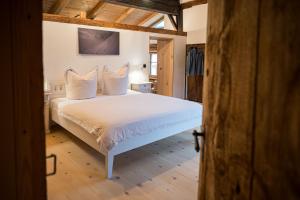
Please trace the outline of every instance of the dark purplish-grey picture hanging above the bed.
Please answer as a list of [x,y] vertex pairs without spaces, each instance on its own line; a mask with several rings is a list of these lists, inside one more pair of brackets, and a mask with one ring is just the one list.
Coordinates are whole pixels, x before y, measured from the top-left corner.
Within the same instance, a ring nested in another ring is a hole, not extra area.
[[120,34],[78,28],[79,54],[120,55]]

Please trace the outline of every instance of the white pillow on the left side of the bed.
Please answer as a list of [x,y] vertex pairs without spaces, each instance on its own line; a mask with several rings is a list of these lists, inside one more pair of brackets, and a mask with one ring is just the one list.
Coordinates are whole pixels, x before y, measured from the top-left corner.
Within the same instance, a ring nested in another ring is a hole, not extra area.
[[65,72],[66,96],[69,99],[89,99],[97,95],[98,70],[80,76],[75,70]]

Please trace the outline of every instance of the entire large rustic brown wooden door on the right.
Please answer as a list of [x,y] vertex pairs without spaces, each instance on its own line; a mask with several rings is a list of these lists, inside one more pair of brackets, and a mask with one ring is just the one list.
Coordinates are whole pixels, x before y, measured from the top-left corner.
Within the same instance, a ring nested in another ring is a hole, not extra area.
[[208,7],[200,199],[299,199],[300,2]]

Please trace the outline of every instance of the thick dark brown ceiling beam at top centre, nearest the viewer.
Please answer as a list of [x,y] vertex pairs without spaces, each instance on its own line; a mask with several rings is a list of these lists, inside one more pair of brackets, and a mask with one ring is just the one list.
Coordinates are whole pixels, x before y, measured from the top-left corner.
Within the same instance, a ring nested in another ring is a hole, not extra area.
[[152,12],[178,15],[180,10],[179,0],[104,0],[107,3],[143,9]]

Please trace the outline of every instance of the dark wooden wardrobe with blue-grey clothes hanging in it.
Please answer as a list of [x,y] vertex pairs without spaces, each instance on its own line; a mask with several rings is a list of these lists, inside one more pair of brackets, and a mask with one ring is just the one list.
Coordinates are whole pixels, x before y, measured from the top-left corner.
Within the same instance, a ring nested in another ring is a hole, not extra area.
[[205,44],[186,46],[185,98],[202,103]]

